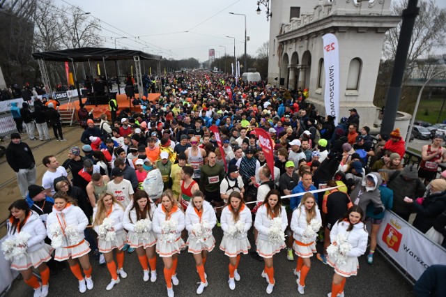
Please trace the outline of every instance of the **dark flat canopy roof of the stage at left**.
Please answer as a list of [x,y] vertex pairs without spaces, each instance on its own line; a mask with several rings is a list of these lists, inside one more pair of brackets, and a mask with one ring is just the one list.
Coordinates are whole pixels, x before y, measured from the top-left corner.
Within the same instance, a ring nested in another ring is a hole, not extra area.
[[81,47],[77,49],[58,50],[54,52],[35,52],[34,59],[56,62],[86,62],[102,61],[104,57],[107,61],[133,60],[133,56],[139,56],[141,60],[160,61],[162,56],[147,54],[139,50],[116,50],[107,47]]

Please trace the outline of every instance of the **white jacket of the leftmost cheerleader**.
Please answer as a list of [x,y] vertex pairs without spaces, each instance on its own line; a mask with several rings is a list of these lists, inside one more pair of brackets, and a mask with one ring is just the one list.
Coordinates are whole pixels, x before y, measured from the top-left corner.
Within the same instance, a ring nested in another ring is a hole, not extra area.
[[[42,220],[40,220],[40,216],[34,211],[30,211],[28,218],[25,220],[26,222],[24,225],[22,225],[20,233],[23,232],[31,235],[31,238],[29,238],[26,242],[26,244],[28,245],[28,248],[26,248],[26,252],[36,252],[36,250],[43,248],[43,244],[45,243],[44,240],[47,237],[45,225],[43,224]],[[8,223],[6,224],[6,227],[8,229],[8,238],[14,238],[17,234],[19,234],[19,231],[17,231],[17,229],[14,233],[11,226],[12,222],[8,220]]]

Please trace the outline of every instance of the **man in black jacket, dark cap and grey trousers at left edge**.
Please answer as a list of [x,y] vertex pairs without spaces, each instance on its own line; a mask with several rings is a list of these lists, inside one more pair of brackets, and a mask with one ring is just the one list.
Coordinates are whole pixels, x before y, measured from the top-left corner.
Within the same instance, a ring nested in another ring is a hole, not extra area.
[[17,174],[20,194],[25,198],[29,185],[36,183],[36,161],[31,148],[22,142],[19,133],[11,134],[11,142],[6,148],[6,160]]

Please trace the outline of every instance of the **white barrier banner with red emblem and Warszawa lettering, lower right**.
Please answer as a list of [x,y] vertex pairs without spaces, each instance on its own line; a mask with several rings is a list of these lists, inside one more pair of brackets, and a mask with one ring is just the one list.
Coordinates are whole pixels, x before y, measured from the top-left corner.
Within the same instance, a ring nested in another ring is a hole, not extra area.
[[378,245],[418,280],[432,264],[446,265],[446,251],[392,211],[386,211],[378,232]]

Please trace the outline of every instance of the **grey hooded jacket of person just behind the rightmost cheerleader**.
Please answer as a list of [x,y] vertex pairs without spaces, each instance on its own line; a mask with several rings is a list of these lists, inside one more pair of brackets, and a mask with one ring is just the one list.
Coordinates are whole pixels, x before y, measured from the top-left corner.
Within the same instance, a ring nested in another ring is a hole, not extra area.
[[[371,188],[367,187],[367,178],[373,178],[375,185]],[[373,202],[375,208],[382,208],[384,211],[384,205],[381,201],[381,195],[379,192],[379,185],[383,183],[383,179],[380,174],[376,172],[372,172],[371,174],[367,174],[364,178],[360,178],[359,176],[353,176],[353,174],[346,174],[347,180],[353,178],[355,181],[355,189],[351,192],[351,201],[353,204],[360,206],[364,213],[366,212],[367,205],[369,202]]]

